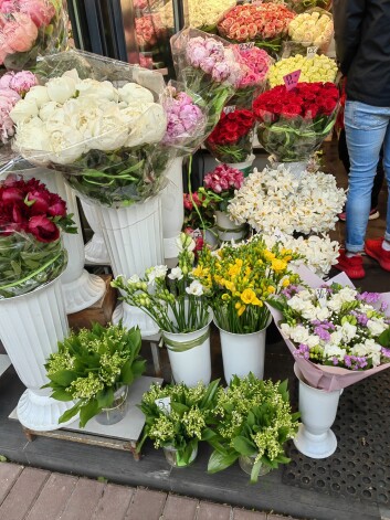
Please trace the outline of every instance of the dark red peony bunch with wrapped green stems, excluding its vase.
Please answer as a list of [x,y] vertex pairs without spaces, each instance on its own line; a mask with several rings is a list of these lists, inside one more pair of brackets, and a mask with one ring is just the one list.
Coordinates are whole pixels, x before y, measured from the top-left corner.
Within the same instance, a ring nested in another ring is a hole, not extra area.
[[9,176],[0,183],[0,298],[30,293],[64,270],[60,229],[76,233],[71,216],[35,179]]

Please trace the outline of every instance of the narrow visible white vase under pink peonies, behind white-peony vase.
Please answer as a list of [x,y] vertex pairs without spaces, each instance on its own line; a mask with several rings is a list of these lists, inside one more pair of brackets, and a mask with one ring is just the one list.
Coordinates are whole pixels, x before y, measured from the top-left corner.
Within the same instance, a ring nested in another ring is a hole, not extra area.
[[161,192],[164,256],[166,264],[175,267],[179,254],[176,240],[185,222],[182,157],[173,160],[166,177],[168,185]]

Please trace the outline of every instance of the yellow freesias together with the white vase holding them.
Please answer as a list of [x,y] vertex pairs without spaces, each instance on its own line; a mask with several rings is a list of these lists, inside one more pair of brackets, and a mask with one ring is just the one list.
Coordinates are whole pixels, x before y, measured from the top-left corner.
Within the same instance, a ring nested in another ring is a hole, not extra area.
[[[215,253],[204,250],[192,272],[205,288],[220,329],[223,373],[264,373],[265,335],[271,316],[264,301],[291,283],[291,251],[278,245],[267,250],[257,237],[244,244],[224,245]],[[293,276],[294,279],[294,276]]]

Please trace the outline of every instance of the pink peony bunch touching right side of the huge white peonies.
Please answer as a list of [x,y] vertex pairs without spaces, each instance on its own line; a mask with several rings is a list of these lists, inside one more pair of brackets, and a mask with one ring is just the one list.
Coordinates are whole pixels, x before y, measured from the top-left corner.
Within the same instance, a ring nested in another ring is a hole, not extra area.
[[193,153],[204,140],[208,119],[203,100],[180,88],[179,84],[170,82],[162,95],[167,131],[161,142],[176,148],[183,156]]

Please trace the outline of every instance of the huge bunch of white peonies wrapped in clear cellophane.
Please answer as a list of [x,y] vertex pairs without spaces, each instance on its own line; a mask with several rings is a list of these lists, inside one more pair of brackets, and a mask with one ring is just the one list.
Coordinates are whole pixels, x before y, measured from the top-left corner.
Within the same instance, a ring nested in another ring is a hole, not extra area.
[[45,57],[39,73],[42,85],[10,114],[17,151],[108,206],[144,201],[165,187],[170,149],[160,146],[167,117],[159,73],[82,51]]

